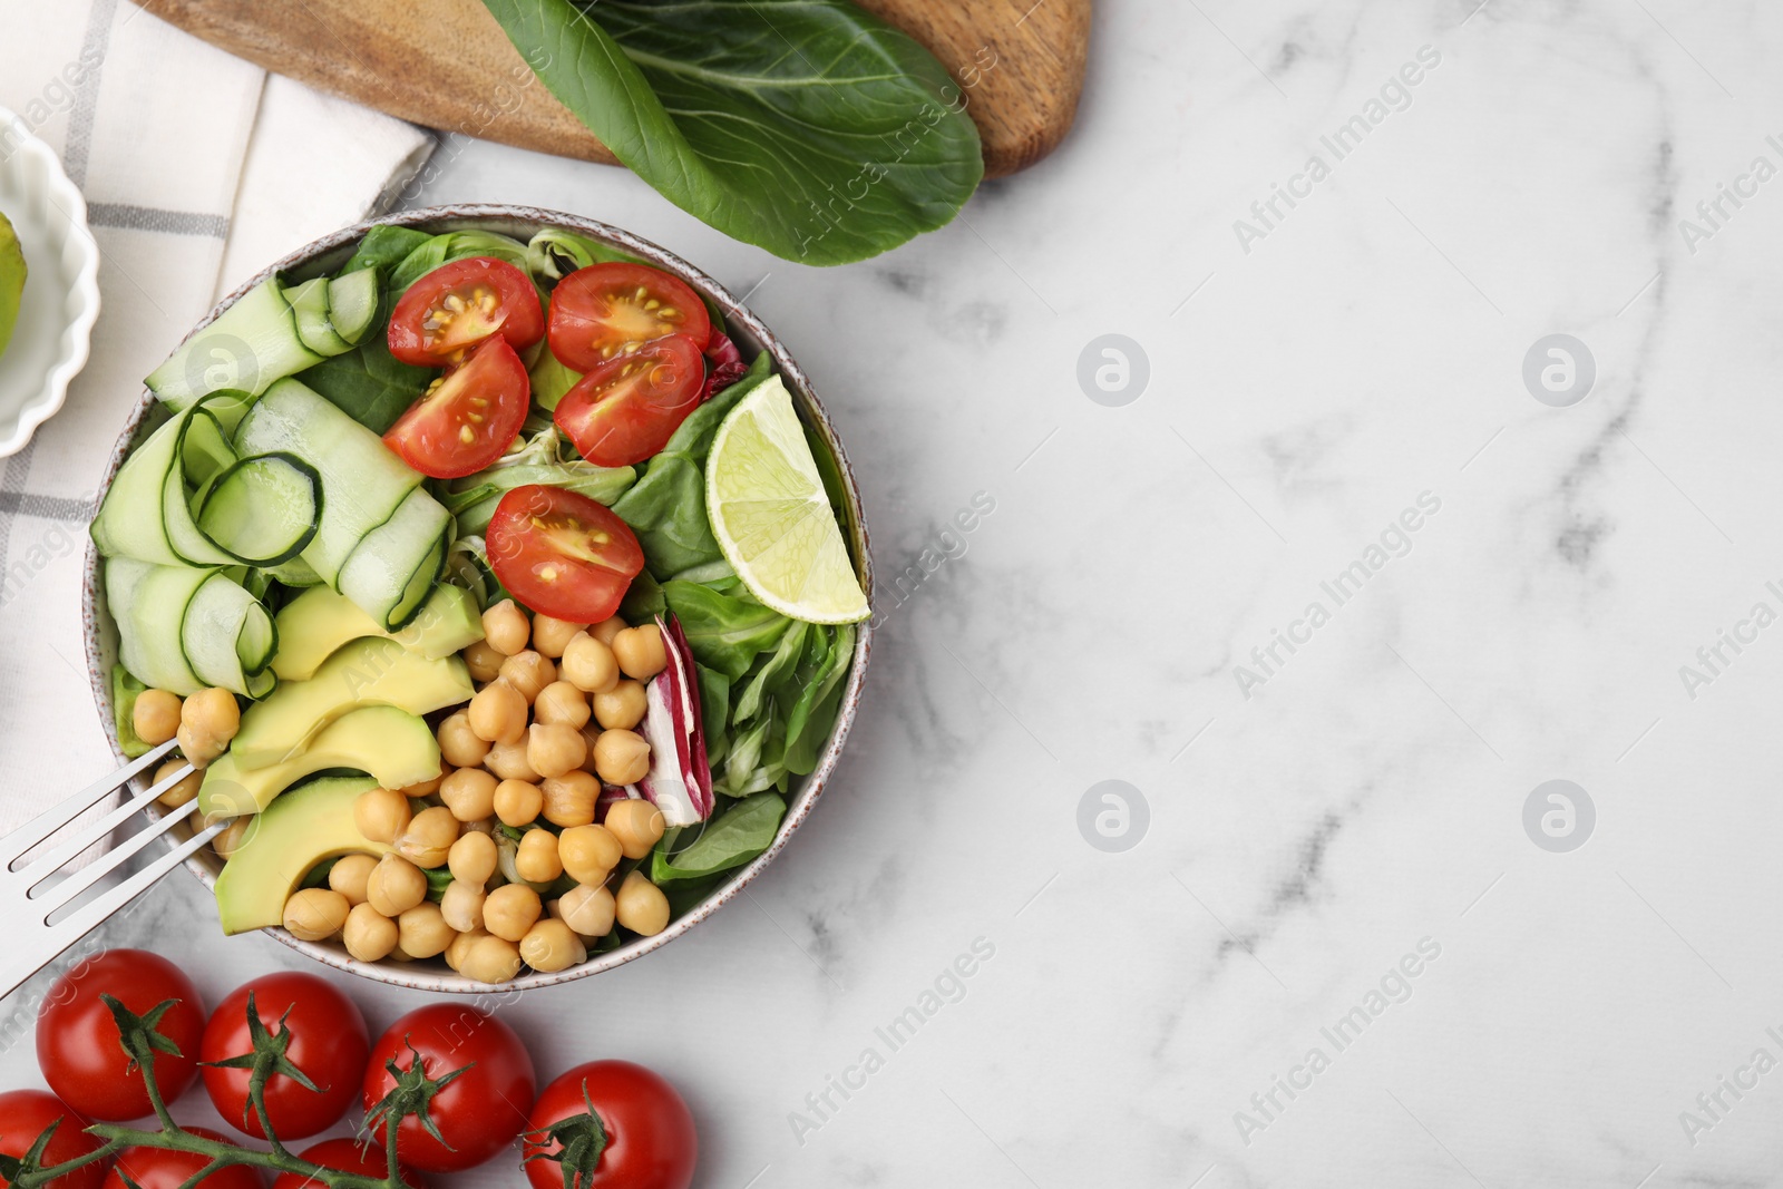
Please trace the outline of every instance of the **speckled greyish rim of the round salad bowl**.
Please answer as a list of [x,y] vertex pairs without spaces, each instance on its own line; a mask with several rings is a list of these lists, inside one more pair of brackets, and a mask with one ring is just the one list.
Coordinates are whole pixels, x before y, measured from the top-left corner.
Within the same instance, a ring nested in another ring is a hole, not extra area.
[[[271,267],[259,273],[253,280],[246,282],[241,289],[225,298],[210,314],[193,328],[198,333],[209,326],[223,310],[242,298],[250,289],[262,283],[275,273],[285,273],[300,269],[307,264],[319,260],[330,253],[339,253],[348,246],[358,242],[366,232],[374,226],[394,225],[394,226],[412,226],[424,232],[453,232],[453,230],[497,230],[506,234],[517,234],[521,239],[533,235],[544,226],[556,226],[578,235],[587,235],[588,239],[610,244],[613,248],[629,251],[637,257],[649,260],[651,264],[674,273],[686,283],[699,289],[703,294],[710,296],[726,316],[726,328],[745,355],[754,351],[767,351],[776,371],[785,380],[786,387],[792,390],[799,412],[804,415],[806,422],[818,431],[824,444],[836,458],[836,465],[842,472],[842,483],[847,496],[847,513],[849,529],[852,537],[852,545],[856,558],[859,560],[859,578],[861,586],[868,592],[874,588],[872,581],[872,553],[868,549],[867,537],[867,517],[861,510],[861,492],[854,480],[854,469],[849,463],[847,451],[842,447],[842,439],[836,435],[834,424],[824,412],[822,401],[817,399],[817,392],[811,389],[809,378],[793,362],[792,353],[781,344],[768,326],[756,317],[747,307],[744,307],[736,298],[731,296],[724,285],[715,282],[706,273],[699,271],[681,257],[645,241],[631,232],[599,223],[596,219],[585,219],[574,214],[565,214],[558,210],[540,210],[537,207],[514,207],[514,205],[455,205],[455,207],[428,207],[423,210],[405,210],[399,214],[389,214],[378,219],[367,219],[366,223],[357,223],[353,226],[325,235],[312,244],[292,251],[283,260],[273,264]],[[521,228],[530,228],[521,232]],[[187,335],[189,339],[191,335]],[[137,399],[123,431],[118,435],[118,442],[112,447],[111,458],[105,463],[105,472],[100,481],[100,496],[111,488],[112,478],[118,474],[118,467],[123,463],[125,455],[130,449],[132,440],[143,428],[152,406],[155,405],[153,394],[144,387],[143,396]],[[111,740],[112,750],[118,752],[119,763],[123,761],[123,750],[118,743],[118,729],[111,713],[111,660],[116,656],[116,626],[111,622],[111,613],[105,610],[103,599],[98,597],[102,590],[100,583],[100,558],[93,544],[87,544],[86,558],[86,581],[82,592],[82,627],[86,635],[87,649],[87,676],[93,685],[93,699],[100,711],[100,720],[105,727],[105,736]],[[824,745],[818,756],[817,768],[799,783],[792,793],[792,804],[786,809],[786,818],[781,822],[779,832],[774,836],[774,843],[758,856],[752,863],[740,868],[729,881],[726,881],[717,891],[713,891],[706,900],[703,900],[690,913],[670,923],[663,932],[654,938],[633,939],[617,950],[608,954],[599,954],[590,957],[581,966],[572,966],[571,970],[560,973],[528,973],[515,979],[514,982],[492,988],[490,984],[472,982],[455,973],[439,959],[417,961],[417,963],[362,963],[351,957],[339,945],[323,945],[314,941],[300,941],[292,938],[283,929],[269,929],[276,939],[289,945],[292,950],[312,957],[323,964],[333,966],[335,970],[344,970],[348,973],[358,975],[362,979],[371,979],[376,982],[387,982],[390,986],[412,988],[417,991],[439,991],[449,995],[490,995],[490,993],[512,993],[512,991],[530,991],[535,988],[556,986],[562,982],[574,982],[576,979],[587,979],[597,975],[604,970],[613,970],[629,961],[644,957],[645,954],[658,950],[676,938],[686,934],[690,929],[704,922],[708,916],[717,913],[720,907],[731,902],[756,875],[767,868],[768,863],[779,856],[786,840],[792,838],[793,831],[809,816],[811,808],[822,795],[824,786],[829,783],[831,774],[836,770],[836,761],[842,756],[842,747],[849,738],[849,731],[854,726],[854,715],[859,708],[861,690],[867,679],[867,660],[872,651],[872,620],[856,626],[858,636],[854,644],[854,661],[849,670],[847,683],[843,686],[842,708],[836,715],[836,726],[829,734],[829,742]],[[153,808],[150,811],[155,815]],[[155,815],[159,816],[159,815]],[[209,863],[203,861],[201,854],[193,856],[185,861],[185,866],[200,879],[207,888],[214,888],[216,872]],[[218,934],[223,939],[223,934]]]

